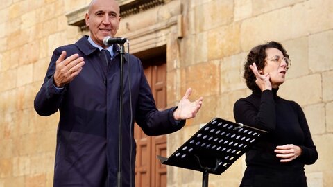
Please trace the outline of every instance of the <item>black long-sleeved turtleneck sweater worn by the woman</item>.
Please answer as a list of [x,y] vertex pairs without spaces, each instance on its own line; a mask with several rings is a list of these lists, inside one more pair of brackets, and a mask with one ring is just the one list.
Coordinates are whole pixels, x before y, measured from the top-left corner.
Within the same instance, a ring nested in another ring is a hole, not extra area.
[[[247,168],[241,186],[307,186],[304,165],[318,159],[302,108],[277,96],[277,91],[254,91],[234,104],[237,123],[268,131],[246,152]],[[286,144],[298,145],[302,154],[281,163],[274,150]]]

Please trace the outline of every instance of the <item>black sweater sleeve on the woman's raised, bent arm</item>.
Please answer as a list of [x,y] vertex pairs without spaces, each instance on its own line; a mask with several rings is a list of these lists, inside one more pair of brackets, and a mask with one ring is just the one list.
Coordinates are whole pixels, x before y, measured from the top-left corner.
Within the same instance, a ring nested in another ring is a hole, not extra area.
[[272,132],[275,130],[275,103],[273,92],[265,90],[261,98],[250,96],[234,103],[234,119],[252,127]]

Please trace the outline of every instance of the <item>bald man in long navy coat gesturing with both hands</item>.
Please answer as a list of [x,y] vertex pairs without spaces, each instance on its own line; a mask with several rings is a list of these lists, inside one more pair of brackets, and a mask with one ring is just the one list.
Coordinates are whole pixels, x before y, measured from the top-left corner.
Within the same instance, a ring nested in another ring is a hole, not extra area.
[[[120,22],[114,0],[94,0],[85,22],[90,35],[53,51],[49,69],[35,98],[35,110],[49,116],[58,110],[53,186],[116,186],[119,160],[119,46],[105,46]],[[134,186],[134,120],[150,136],[180,130],[193,118],[203,98],[189,101],[187,89],[178,107],[158,111],[140,60],[123,63],[122,186]]]

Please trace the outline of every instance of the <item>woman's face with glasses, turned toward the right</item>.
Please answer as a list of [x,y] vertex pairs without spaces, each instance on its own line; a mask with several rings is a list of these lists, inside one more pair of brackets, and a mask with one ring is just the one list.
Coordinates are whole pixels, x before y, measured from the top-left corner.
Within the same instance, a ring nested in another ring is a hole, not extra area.
[[262,74],[268,73],[273,88],[278,88],[287,73],[288,59],[284,58],[282,51],[278,48],[266,48],[266,65]]

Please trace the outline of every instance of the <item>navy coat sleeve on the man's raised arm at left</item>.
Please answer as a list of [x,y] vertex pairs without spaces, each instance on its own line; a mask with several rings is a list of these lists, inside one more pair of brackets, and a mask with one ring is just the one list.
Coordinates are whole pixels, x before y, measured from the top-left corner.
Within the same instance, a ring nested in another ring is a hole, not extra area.
[[56,71],[56,60],[60,56],[60,49],[53,51],[51,62],[49,68],[47,69],[46,76],[44,78],[44,83],[37,92],[34,100],[34,107],[37,114],[41,116],[50,116],[58,111],[61,100],[64,96],[66,88],[61,92],[57,92],[53,86],[53,75]]

